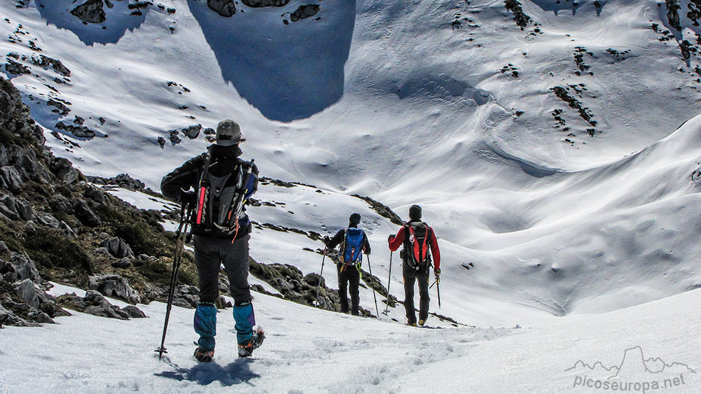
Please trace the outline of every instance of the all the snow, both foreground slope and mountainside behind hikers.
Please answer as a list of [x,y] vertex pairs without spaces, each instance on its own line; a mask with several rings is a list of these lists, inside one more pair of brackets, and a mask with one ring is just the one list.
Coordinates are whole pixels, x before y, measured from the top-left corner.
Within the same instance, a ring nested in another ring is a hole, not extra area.
[[[222,311],[216,363],[195,365],[191,311],[175,309],[170,363],[151,353],[163,304],[139,306],[145,321],[76,314],[0,332],[0,392],[595,391],[573,382],[613,374],[566,369],[620,365],[635,346],[650,365],[630,367],[646,371],[628,371],[632,381],[662,376],[653,358],[700,367],[700,296],[688,291],[701,287],[700,59],[683,59],[678,45],[701,31],[686,15],[693,1],[679,1],[681,31],[651,0],[524,0],[524,30],[503,1],[486,0],[292,0],[242,4],[231,18],[205,1],[155,1],[164,9],[140,16],[114,1],[102,24],[83,24],[69,0],[15,3],[0,6],[0,50],[31,73],[5,73],[56,155],[88,175],[128,173],[157,190],[207,146],[202,133],[171,143],[169,130],[233,118],[261,176],[305,184],[261,187],[256,198],[271,204],[250,207],[252,220],[332,235],[358,211],[385,286],[384,245],[397,226],[353,195],[404,219],[411,204],[423,206],[443,260],[442,305],[432,289],[432,311],[461,326],[431,318],[444,328],[407,328],[401,307],[374,321],[259,295],[269,336],[257,359],[235,359]],[[318,3],[318,15],[283,23],[306,3]],[[71,75],[32,64],[40,55]],[[52,112],[47,102],[57,100],[71,112]],[[95,137],[57,129],[76,115]],[[320,246],[258,228],[251,255],[307,274],[321,259],[304,248]],[[390,292],[401,300],[393,257]],[[330,264],[324,276],[336,286]],[[373,303],[363,289],[362,307]],[[695,373],[683,372],[669,392],[696,392]]]

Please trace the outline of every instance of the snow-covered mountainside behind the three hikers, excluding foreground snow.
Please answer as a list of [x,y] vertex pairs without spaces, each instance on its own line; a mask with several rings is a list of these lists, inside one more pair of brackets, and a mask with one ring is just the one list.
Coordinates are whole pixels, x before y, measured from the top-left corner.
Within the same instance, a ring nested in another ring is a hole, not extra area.
[[2,5],[2,70],[48,145],[155,189],[237,120],[261,175],[304,184],[259,191],[257,260],[318,272],[318,242],[263,224],[325,235],[360,211],[386,280],[397,226],[362,195],[402,218],[423,206],[440,313],[461,323],[701,286],[697,1],[243,1],[228,17],[209,1],[80,3]]

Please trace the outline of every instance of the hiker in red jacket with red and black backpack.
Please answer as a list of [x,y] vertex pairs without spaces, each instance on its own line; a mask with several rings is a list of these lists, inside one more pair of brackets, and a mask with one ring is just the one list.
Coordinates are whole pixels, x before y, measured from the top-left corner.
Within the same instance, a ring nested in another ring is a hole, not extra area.
[[[433,254],[433,274],[440,278],[440,251],[438,241],[431,227],[421,221],[421,206],[412,205],[409,208],[409,221],[404,223],[397,235],[390,235],[390,251],[396,251],[404,246],[402,258],[402,274],[404,276],[404,309],[407,311],[407,324],[416,325],[414,311],[414,282],[418,281],[420,297],[418,325],[423,325],[428,319],[428,281]],[[430,248],[430,252],[429,252]]]

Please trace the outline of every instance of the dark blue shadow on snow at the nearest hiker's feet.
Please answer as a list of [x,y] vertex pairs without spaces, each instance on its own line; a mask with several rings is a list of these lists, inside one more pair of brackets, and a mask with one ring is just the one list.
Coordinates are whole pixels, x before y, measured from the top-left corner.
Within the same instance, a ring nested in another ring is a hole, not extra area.
[[219,381],[222,386],[233,386],[247,384],[250,380],[261,377],[259,374],[251,372],[250,364],[252,362],[253,360],[250,358],[239,358],[226,367],[212,362],[200,363],[189,370],[170,363],[172,367],[175,367],[175,371],[164,371],[154,375],[177,381],[192,381],[203,386],[207,386],[213,381]]

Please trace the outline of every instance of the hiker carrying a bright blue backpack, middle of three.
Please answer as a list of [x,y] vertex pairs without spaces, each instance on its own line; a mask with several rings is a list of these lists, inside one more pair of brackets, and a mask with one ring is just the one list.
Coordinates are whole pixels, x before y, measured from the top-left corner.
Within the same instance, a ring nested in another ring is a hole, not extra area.
[[[348,218],[348,229],[339,230],[332,239],[325,238],[327,249],[335,249],[341,245],[336,270],[339,274],[339,296],[341,297],[341,312],[348,313],[348,291],[351,293],[351,314],[358,316],[360,304],[360,263],[362,252],[370,254],[370,243],[365,232],[358,228],[360,213],[353,213]],[[348,286],[350,284],[350,287]]]

